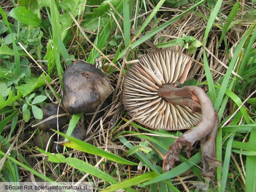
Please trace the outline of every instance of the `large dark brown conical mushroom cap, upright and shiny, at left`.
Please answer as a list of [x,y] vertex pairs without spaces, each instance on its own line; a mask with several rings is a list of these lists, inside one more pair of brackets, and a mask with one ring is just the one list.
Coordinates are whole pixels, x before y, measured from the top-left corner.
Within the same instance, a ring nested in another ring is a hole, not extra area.
[[109,79],[84,61],[70,64],[63,75],[63,105],[70,114],[94,113],[112,92]]

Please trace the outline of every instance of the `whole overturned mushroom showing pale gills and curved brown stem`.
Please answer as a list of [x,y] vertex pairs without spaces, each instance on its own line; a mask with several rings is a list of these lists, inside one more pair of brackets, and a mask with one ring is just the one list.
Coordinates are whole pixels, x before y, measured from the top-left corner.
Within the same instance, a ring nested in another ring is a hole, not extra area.
[[163,170],[168,171],[179,160],[182,146],[187,146],[189,157],[193,144],[203,138],[202,176],[214,179],[218,165],[215,152],[217,112],[200,87],[177,87],[186,80],[191,63],[189,56],[169,49],[141,56],[126,73],[122,100],[128,114],[148,128],[172,131],[195,126],[169,147]]

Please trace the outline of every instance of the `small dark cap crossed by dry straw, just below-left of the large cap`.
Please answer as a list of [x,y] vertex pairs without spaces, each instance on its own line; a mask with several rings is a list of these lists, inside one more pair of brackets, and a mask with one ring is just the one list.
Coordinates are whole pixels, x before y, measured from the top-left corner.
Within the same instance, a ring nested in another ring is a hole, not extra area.
[[[58,112],[58,108],[59,108],[59,112]],[[38,119],[38,122],[41,122],[52,115],[57,115],[57,114],[60,115],[60,114],[66,113],[63,108],[59,107],[59,105],[55,103],[47,103],[46,105],[43,105],[41,109],[43,112],[43,118]],[[58,123],[59,123],[60,129],[66,125],[66,122],[67,122],[67,116],[58,117]],[[50,129],[57,129],[57,117],[49,121],[42,122],[38,126],[41,130],[44,130],[44,131],[50,131]]]

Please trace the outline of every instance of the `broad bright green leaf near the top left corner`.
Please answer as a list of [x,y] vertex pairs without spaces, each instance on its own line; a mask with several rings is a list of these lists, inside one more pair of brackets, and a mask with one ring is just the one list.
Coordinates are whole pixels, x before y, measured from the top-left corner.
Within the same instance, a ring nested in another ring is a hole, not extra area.
[[26,7],[16,7],[11,10],[9,15],[21,23],[43,28],[42,20]]

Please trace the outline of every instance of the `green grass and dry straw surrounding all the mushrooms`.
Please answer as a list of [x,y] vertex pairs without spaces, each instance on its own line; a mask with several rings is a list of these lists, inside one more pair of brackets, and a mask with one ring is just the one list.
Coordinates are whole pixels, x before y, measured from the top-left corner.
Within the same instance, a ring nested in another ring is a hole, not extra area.
[[[191,76],[200,79],[220,119],[216,153],[221,166],[210,191],[256,191],[256,5],[216,0],[209,7],[213,2],[191,1],[171,10],[172,0],[91,0],[86,6],[83,0],[21,0],[17,7],[11,1],[0,7],[1,180],[25,181],[32,173],[48,182],[69,181],[72,175],[77,182],[86,175],[98,191],[196,191],[192,182],[204,181],[199,144],[190,158],[182,150],[180,162],[164,173],[162,155],[182,133],[140,126],[122,106],[129,61],[151,52],[150,41],[203,64],[194,63]],[[202,43],[196,53],[185,48],[192,45],[189,40],[178,43],[185,37]],[[114,93],[101,116],[69,115],[67,135],[79,124],[88,129],[87,139],[67,136],[66,147],[77,151],[53,155],[36,150],[38,130],[32,126],[42,105],[60,101],[71,59],[101,63]],[[45,72],[38,74],[39,67]]]

